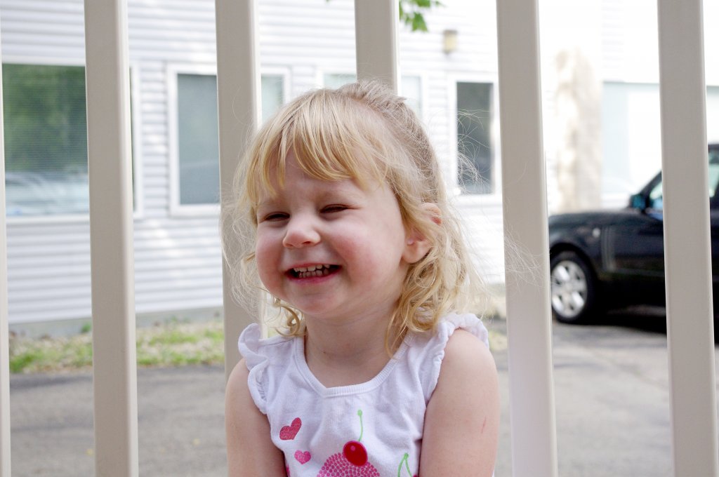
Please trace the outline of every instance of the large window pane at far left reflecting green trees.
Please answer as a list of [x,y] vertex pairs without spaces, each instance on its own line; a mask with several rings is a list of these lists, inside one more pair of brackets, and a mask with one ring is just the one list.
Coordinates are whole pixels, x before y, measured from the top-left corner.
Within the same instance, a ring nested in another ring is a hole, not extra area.
[[8,216],[88,212],[85,69],[3,65]]

